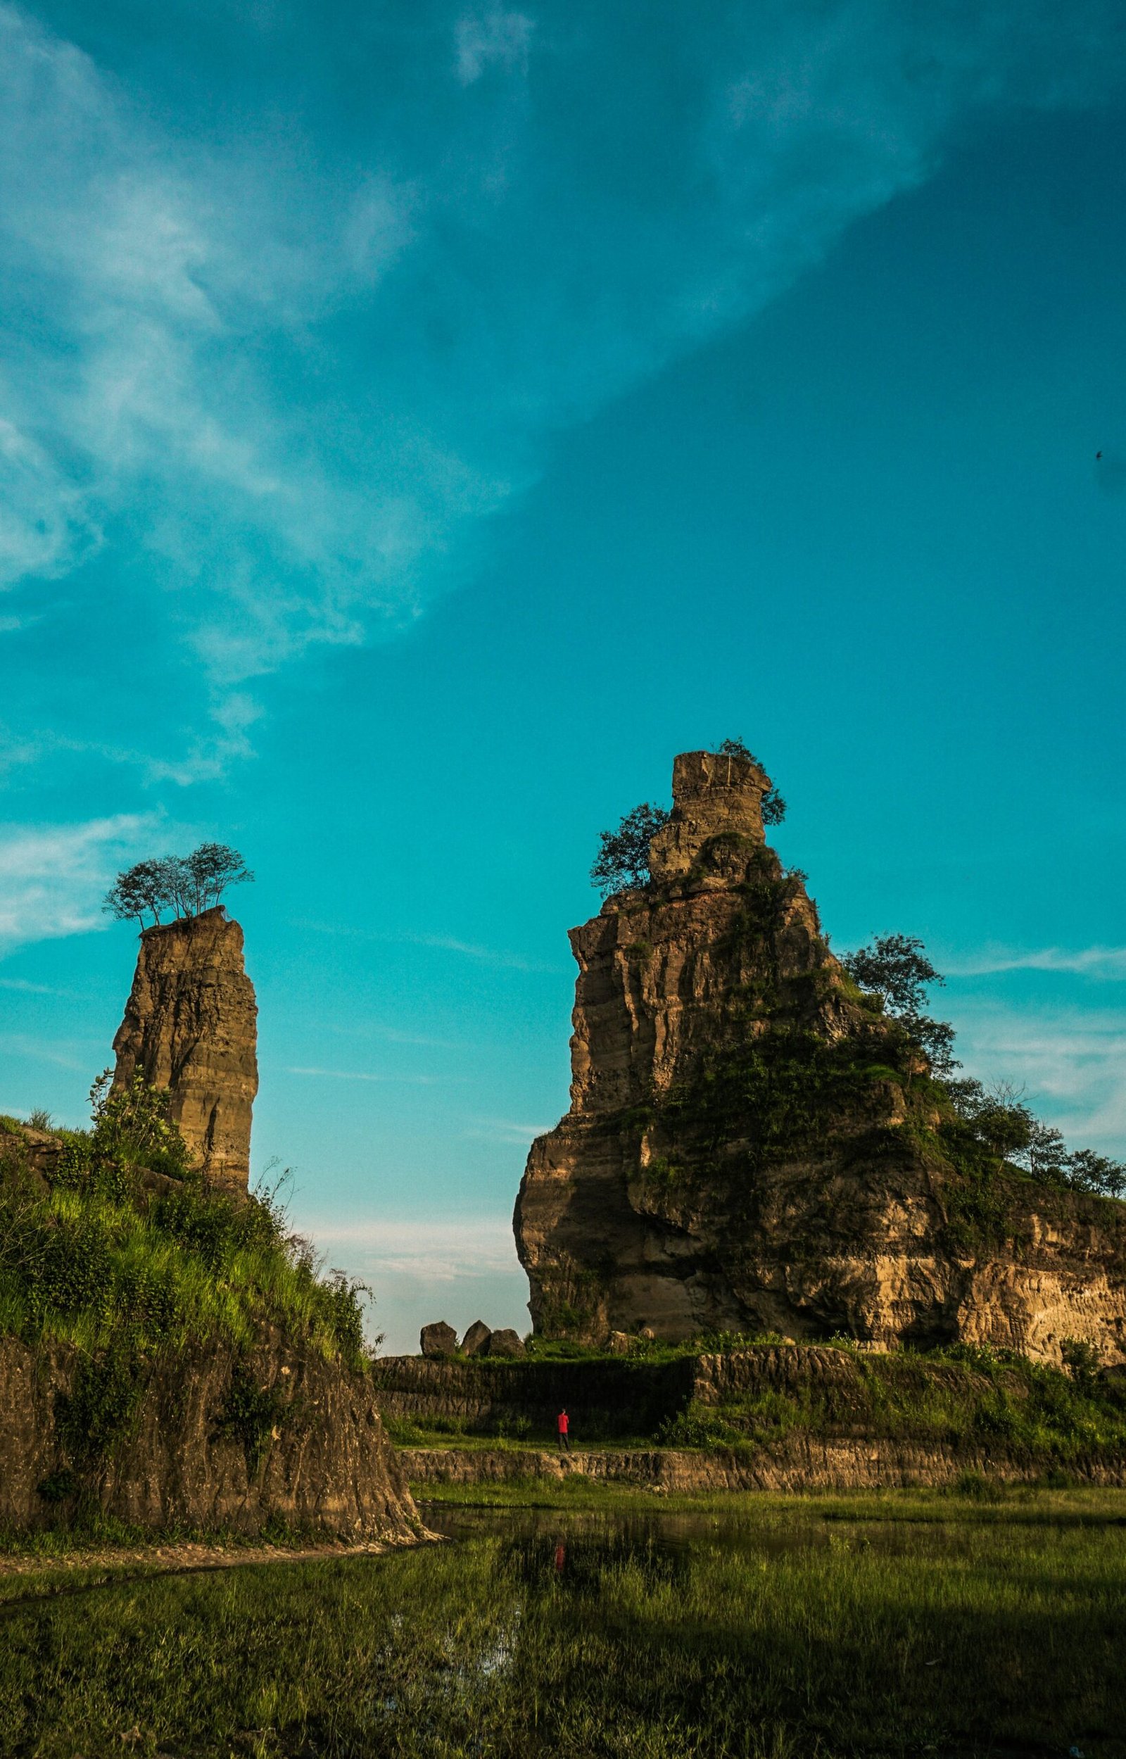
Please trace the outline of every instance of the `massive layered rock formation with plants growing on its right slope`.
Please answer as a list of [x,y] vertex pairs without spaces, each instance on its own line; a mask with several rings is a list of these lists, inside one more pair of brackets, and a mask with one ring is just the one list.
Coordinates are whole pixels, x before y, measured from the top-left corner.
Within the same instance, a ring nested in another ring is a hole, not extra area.
[[1126,1358],[1126,1205],[957,1117],[765,846],[771,781],[693,751],[651,885],[572,931],[572,1106],[515,1205],[538,1333],[966,1340]]

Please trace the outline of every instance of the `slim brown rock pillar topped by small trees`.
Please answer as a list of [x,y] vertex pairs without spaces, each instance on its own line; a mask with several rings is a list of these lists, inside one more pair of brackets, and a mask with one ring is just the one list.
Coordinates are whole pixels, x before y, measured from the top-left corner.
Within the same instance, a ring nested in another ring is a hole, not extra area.
[[222,904],[143,932],[113,1041],[114,1087],[137,1069],[151,1087],[167,1087],[172,1120],[199,1166],[232,1189],[246,1189],[250,1177],[257,1011],[243,931]]

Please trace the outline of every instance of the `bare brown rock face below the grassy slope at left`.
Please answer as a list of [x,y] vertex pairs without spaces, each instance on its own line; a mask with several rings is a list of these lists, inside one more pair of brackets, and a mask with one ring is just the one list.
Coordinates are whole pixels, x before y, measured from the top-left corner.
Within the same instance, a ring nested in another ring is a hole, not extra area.
[[121,1388],[99,1376],[72,1347],[0,1339],[0,1523],[56,1525],[81,1502],[141,1527],[417,1530],[371,1381],[311,1346],[273,1335],[248,1353],[169,1353],[106,1446]]

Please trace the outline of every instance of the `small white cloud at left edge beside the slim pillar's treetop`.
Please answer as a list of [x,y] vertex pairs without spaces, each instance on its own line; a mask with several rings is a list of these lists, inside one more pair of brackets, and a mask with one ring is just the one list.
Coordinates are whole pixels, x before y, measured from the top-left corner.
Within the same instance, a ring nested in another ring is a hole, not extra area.
[[106,927],[102,892],[157,814],[118,813],[81,825],[0,825],[0,950]]

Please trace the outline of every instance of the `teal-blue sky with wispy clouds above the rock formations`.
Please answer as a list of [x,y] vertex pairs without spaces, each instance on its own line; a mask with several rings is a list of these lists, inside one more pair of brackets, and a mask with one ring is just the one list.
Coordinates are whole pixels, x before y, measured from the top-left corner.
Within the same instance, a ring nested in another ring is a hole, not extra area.
[[1094,0],[0,5],[0,1108],[236,843],[259,1168],[391,1344],[523,1328],[596,832],[735,734],[1126,1152],[1124,76]]

